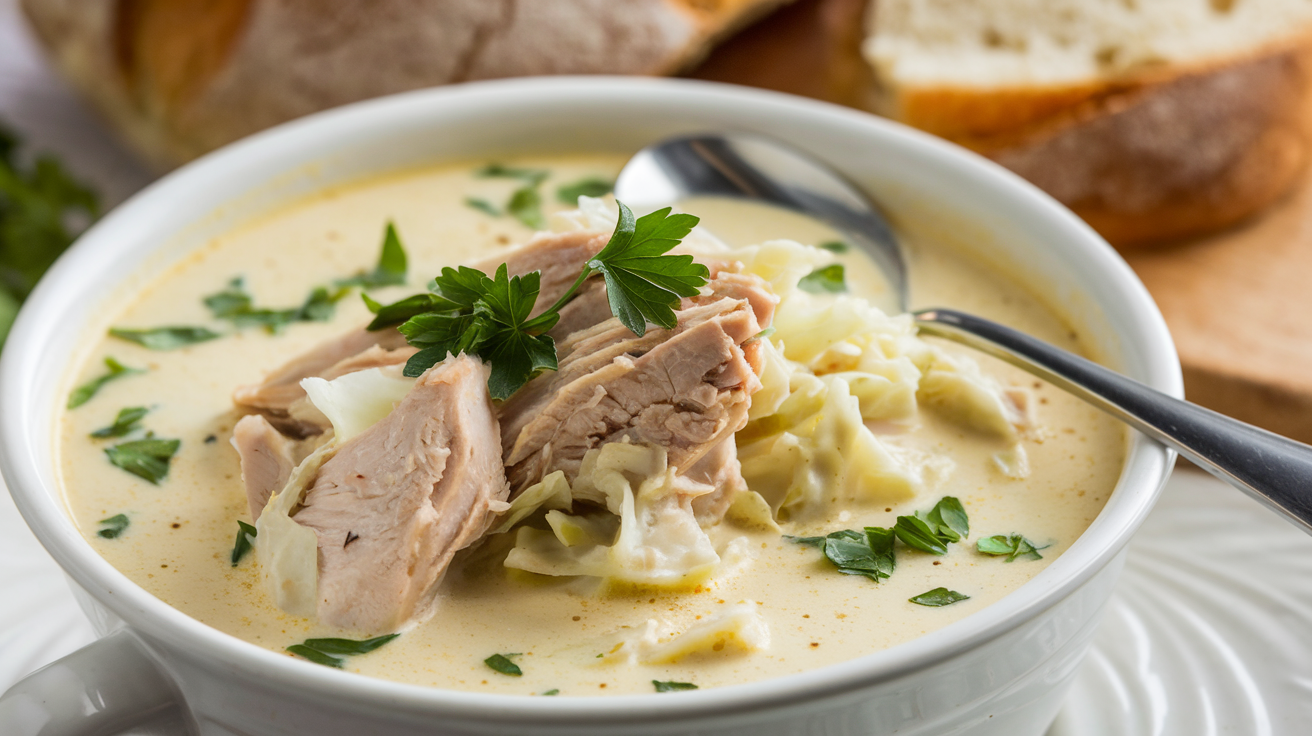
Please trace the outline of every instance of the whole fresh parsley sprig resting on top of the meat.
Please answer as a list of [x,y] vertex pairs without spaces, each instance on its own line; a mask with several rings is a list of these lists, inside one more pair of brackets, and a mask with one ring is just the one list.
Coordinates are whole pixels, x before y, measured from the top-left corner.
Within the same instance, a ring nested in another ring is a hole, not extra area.
[[430,294],[371,304],[377,316],[369,328],[401,323],[400,332],[420,349],[405,363],[408,377],[421,375],[447,354],[479,356],[492,366],[488,390],[497,400],[538,373],[556,369],[555,341],[546,332],[593,274],[606,279],[610,311],[635,335],[644,335],[648,321],[673,328],[680,299],[698,294],[710,276],[691,256],[666,255],[698,218],[672,215],[666,207],[635,219],[627,206],[618,205],[619,222],[610,241],[584,265],[573,286],[533,319],[529,314],[538,300],[541,274],[509,277],[501,264],[491,278],[467,266],[445,268],[429,285]]

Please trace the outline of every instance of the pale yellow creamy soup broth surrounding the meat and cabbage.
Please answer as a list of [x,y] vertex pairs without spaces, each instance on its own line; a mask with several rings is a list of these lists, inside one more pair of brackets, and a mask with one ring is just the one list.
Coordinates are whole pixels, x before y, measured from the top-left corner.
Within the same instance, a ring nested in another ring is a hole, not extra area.
[[[230,562],[236,522],[251,521],[239,458],[230,446],[240,417],[234,388],[258,383],[289,358],[367,321],[363,302],[348,294],[331,320],[297,321],[274,335],[216,321],[202,296],[243,277],[255,304],[297,306],[316,286],[373,268],[388,220],[408,253],[409,285],[370,290],[382,303],[421,290],[442,266],[510,252],[531,230],[513,216],[495,215],[525,184],[474,176],[480,164],[327,190],[214,239],[112,317],[115,327],[206,325],[224,333],[220,338],[164,352],[89,336],[94,348],[72,371],[70,388],[105,374],[106,357],[147,371],[106,382],[85,404],[66,411],[60,424],[59,474],[68,508],[106,560],[188,615],[287,656],[294,656],[286,652],[289,645],[311,638],[383,634],[342,631],[285,613],[270,597],[256,555],[236,565]],[[558,199],[559,185],[613,180],[623,159],[513,164],[550,171],[538,185],[550,213],[571,209]],[[492,207],[471,206],[471,199]],[[708,201],[685,203],[682,210],[701,215],[702,227],[731,248],[771,239],[807,245],[838,240],[813,222],[760,206]],[[908,248],[917,304],[968,310],[1061,348],[1081,349],[1057,315],[1006,276],[945,244],[912,241]],[[849,251],[832,258],[845,266],[851,294],[882,294],[878,272],[863,255]],[[879,446],[913,466],[918,483],[913,495],[890,496],[878,488],[857,497],[834,493],[837,500],[817,501],[819,512],[790,514],[778,508],[775,488],[787,481],[758,474],[762,496],[773,496],[769,502],[782,517],[779,530],[750,514],[729,514],[706,530],[722,563],[682,585],[597,585],[510,569],[504,560],[517,533],[493,535],[455,558],[432,618],[370,653],[342,657],[344,668],[434,687],[523,695],[652,693],[653,681],[711,687],[840,663],[912,640],[985,606],[1006,605],[1006,594],[1060,556],[1102,509],[1120,474],[1126,436],[1109,417],[1025,373],[958,346],[926,344],[949,358],[977,362],[989,386],[1022,404],[1025,425],[1014,436],[991,433],[951,411],[930,408],[925,396],[926,405],[909,419],[869,421]],[[787,340],[783,348],[789,350]],[[148,413],[119,438],[89,436],[127,407]],[[762,426],[744,430],[754,432],[752,437],[740,433],[745,466],[765,467],[744,447],[761,438],[768,430]],[[144,432],[181,441],[159,484],[106,459],[106,447]],[[754,476],[747,478],[756,489]],[[865,526],[892,529],[899,516],[929,512],[945,496],[959,499],[968,514],[967,538],[947,543],[943,555],[899,541],[896,569],[878,583],[842,575],[821,548],[791,539]],[[101,520],[118,514],[127,526],[117,537],[102,534],[114,525]],[[546,529],[541,512],[526,523]],[[1040,550],[1008,562],[1006,555],[977,548],[983,538],[1010,534]],[[938,588],[968,598],[942,606],[909,601]],[[661,644],[689,631],[693,638],[706,635],[660,653]],[[634,655],[639,649],[647,653]],[[492,655],[506,656],[521,674],[489,665]]]

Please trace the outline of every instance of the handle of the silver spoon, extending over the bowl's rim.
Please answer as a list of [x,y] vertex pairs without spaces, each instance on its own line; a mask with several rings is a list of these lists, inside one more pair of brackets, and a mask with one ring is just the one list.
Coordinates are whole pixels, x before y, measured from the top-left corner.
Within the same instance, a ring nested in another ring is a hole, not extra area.
[[1312,533],[1312,446],[1173,399],[1001,324],[916,312],[921,332],[962,342],[1075,394]]

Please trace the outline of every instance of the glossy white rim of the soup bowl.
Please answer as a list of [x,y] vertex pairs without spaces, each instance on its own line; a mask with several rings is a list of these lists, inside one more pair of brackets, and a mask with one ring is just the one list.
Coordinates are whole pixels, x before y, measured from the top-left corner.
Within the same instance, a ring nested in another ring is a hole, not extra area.
[[[54,304],[70,299],[62,285],[93,262],[93,255],[112,252],[115,241],[131,241],[134,219],[178,194],[202,193],[206,184],[239,176],[257,167],[262,157],[286,157],[287,151],[303,161],[321,160],[329,151],[321,140],[341,138],[352,131],[396,127],[404,121],[443,125],[451,109],[478,109],[492,100],[516,100],[525,109],[559,102],[562,97],[607,100],[622,105],[668,104],[685,106],[737,108],[752,114],[807,115],[829,125],[862,130],[883,144],[899,146],[924,159],[947,163],[966,178],[991,186],[1015,201],[1027,216],[1064,232],[1069,248],[1092,258],[1126,299],[1139,319],[1143,338],[1131,344],[1144,363],[1139,378],[1173,396],[1182,396],[1178,358],[1165,321],[1143,283],[1130,266],[1089,226],[1069,210],[1012,172],[981,156],[958,148],[900,123],[876,118],[837,105],[806,100],[778,92],[749,89],[718,83],[635,79],[635,77],[531,77],[482,81],[455,87],[421,89],[356,102],[283,123],[209,153],[151,184],[89,228],[55,264],[31,294],[13,325],[0,359],[0,471],[14,502],[42,546],[66,575],[100,605],[118,615],[127,627],[167,645],[169,656],[182,656],[224,677],[247,682],[268,682],[276,687],[298,689],[321,702],[352,701],[357,705],[384,706],[391,712],[440,714],[454,719],[489,716],[496,723],[634,723],[659,718],[663,722],[708,715],[760,711],[762,706],[783,706],[800,701],[838,695],[934,666],[967,649],[1031,621],[1068,597],[1076,588],[1106,567],[1143,522],[1170,474],[1174,453],[1132,434],[1122,476],[1094,523],[1057,560],[1012,592],[1002,601],[976,611],[947,627],[897,644],[813,670],[741,685],[674,693],[661,698],[614,695],[607,698],[537,698],[464,690],[445,690],[407,685],[374,677],[361,677],[247,643],[236,636],[193,619],[168,606],[101,558],[77,533],[60,501],[58,488],[47,489],[37,468],[34,447],[55,437],[33,437],[25,432],[29,419],[49,411],[50,396],[30,395],[28,387],[38,375],[42,315]],[[747,114],[747,113],[744,113]],[[379,169],[377,173],[383,173]],[[214,207],[224,202],[214,202]],[[163,243],[154,247],[157,251]],[[89,311],[92,307],[81,307]],[[17,411],[14,411],[17,408]],[[1127,489],[1128,488],[1128,489]],[[1132,492],[1132,493],[1131,493]],[[1132,497],[1128,497],[1132,496]],[[167,659],[167,657],[165,657]],[[771,708],[764,708],[771,710]]]

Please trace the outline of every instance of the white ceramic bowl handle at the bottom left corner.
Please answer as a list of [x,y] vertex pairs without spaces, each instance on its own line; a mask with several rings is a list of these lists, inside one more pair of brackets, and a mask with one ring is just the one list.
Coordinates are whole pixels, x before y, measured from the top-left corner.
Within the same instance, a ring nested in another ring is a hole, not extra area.
[[92,736],[151,723],[181,702],[127,631],[92,642],[0,695],[5,736]]

